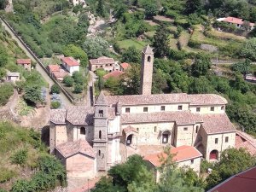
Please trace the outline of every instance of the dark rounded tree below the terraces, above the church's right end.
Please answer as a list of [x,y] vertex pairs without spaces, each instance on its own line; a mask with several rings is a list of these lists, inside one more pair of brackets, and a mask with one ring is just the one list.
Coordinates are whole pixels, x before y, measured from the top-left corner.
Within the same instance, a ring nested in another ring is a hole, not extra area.
[[198,54],[195,56],[195,61],[192,64],[192,74],[195,77],[206,75],[212,66],[211,59],[208,55]]

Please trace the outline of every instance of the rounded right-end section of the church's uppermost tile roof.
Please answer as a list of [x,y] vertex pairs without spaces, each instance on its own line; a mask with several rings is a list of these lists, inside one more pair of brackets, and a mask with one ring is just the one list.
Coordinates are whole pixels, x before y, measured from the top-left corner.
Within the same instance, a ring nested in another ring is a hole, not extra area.
[[193,94],[188,96],[190,105],[225,105],[228,103],[223,96],[216,94]]

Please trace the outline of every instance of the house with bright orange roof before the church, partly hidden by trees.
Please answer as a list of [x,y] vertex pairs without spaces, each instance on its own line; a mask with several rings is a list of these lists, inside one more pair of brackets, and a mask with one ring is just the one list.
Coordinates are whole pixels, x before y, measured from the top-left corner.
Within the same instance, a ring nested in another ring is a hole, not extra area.
[[[173,159],[178,167],[189,167],[193,169],[197,174],[200,173],[200,165],[201,165],[201,157],[202,154],[199,150],[197,150],[193,146],[183,145],[180,147],[172,147],[170,149],[171,154],[173,154]],[[149,165],[152,166],[155,170],[155,178],[158,182],[160,179],[160,172],[157,169],[162,165],[160,158],[166,159],[167,154],[161,153],[154,153],[154,154],[147,154],[144,156],[143,160],[148,161]]]

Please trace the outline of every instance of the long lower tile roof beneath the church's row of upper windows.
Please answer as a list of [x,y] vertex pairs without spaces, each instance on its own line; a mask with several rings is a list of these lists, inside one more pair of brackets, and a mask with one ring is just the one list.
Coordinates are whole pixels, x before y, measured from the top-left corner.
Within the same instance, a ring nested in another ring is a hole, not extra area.
[[177,125],[195,124],[202,122],[198,113],[189,111],[154,112],[154,113],[122,113],[122,124],[149,123],[149,122],[176,122]]

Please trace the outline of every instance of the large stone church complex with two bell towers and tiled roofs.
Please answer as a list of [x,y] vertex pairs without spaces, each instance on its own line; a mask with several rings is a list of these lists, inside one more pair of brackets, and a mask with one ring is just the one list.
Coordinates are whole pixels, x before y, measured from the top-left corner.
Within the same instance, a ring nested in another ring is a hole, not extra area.
[[147,46],[142,56],[140,95],[104,96],[101,92],[93,107],[51,110],[50,152],[65,164],[67,176],[94,177],[131,154],[156,154],[154,148],[162,150],[166,145],[188,156],[189,163],[183,158],[186,166],[195,162],[189,153],[196,154],[195,171],[199,172],[201,156],[219,160],[224,149],[235,146],[236,129],[225,113],[224,97],[152,95],[154,52]]

